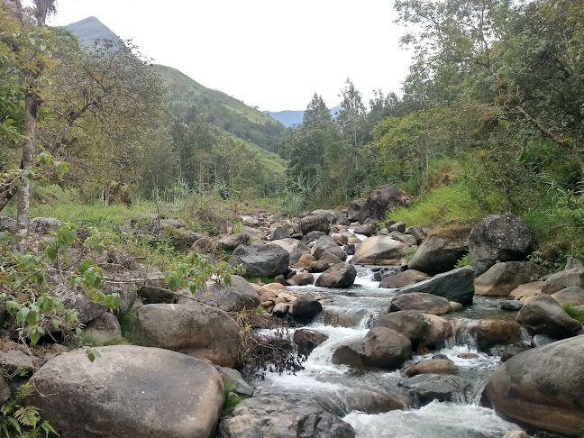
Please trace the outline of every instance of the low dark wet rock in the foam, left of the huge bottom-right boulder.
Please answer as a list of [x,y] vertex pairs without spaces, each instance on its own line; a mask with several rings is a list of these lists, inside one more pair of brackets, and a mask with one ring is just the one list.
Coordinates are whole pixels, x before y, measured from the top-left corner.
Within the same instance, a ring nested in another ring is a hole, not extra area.
[[423,405],[433,400],[451,401],[463,397],[471,388],[467,379],[449,374],[420,374],[400,381],[399,386],[408,389]]

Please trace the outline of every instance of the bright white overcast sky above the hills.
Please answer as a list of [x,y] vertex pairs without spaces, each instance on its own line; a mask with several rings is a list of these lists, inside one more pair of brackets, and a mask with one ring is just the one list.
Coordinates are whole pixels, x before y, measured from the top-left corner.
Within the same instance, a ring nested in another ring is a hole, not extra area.
[[51,25],[96,16],[143,55],[260,110],[400,92],[410,53],[390,0],[58,0]]

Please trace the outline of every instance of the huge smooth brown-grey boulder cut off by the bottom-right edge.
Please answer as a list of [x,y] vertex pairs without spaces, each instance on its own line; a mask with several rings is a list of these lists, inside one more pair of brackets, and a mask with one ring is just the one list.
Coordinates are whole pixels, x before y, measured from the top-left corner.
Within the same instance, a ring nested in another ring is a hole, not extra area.
[[481,403],[530,429],[579,436],[584,418],[584,336],[516,354],[488,379]]

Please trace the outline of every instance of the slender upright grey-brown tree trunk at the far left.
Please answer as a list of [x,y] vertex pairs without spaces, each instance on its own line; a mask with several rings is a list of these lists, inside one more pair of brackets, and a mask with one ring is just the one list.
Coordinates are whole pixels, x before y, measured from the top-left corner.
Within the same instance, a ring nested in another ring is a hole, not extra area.
[[[24,171],[34,167],[34,139],[36,125],[39,121],[39,108],[41,98],[34,92],[36,80],[29,83],[30,91],[24,96],[24,142],[23,160],[21,167]],[[22,185],[18,189],[18,211],[16,214],[16,235],[20,238],[19,248],[23,249],[23,241],[28,234],[29,208],[31,206],[31,180],[23,178]]]

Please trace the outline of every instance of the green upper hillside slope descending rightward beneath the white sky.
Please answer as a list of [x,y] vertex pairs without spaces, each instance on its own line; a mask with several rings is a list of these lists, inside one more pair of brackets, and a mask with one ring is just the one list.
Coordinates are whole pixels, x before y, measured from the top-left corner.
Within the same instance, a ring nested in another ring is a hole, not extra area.
[[169,86],[172,112],[185,123],[203,119],[242,140],[278,152],[286,127],[268,114],[217,90],[202,86],[176,68],[154,65],[154,70]]

